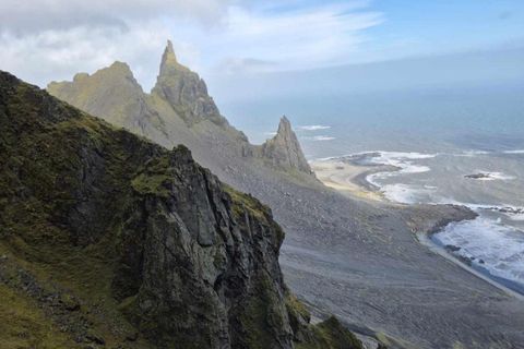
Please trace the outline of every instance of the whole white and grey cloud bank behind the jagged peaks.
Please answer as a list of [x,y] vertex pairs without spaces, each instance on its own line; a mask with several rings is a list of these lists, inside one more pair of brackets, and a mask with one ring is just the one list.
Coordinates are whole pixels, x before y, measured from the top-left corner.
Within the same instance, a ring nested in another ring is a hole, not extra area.
[[204,77],[286,71],[344,63],[382,21],[362,1],[2,0],[0,70],[45,86],[120,60],[148,89],[167,38]]

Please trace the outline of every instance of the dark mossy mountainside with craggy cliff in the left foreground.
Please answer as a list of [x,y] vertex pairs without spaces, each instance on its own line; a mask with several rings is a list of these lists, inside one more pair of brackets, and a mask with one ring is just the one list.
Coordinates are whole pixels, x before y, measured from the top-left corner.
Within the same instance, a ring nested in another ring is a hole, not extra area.
[[360,348],[308,324],[271,210],[184,146],[0,72],[0,154],[2,348]]

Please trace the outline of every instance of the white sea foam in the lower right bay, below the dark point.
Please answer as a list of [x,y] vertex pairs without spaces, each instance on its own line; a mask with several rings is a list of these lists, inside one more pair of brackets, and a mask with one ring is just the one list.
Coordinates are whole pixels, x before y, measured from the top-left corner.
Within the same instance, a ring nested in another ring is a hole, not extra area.
[[479,217],[450,224],[433,239],[461,249],[455,254],[472,260],[490,274],[524,285],[524,232],[500,220]]

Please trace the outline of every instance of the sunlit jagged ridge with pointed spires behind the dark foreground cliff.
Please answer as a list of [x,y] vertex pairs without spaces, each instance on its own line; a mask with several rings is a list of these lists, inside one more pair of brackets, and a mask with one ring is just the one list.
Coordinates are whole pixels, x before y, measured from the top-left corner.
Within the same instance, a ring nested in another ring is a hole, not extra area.
[[[151,94],[142,91],[129,67],[116,62],[93,75],[78,74],[72,82],[52,82],[47,91],[69,104],[123,127],[140,135],[172,147],[186,144],[196,160],[224,171],[231,161],[217,158],[240,157],[245,163],[263,163],[281,171],[311,174],[290,123],[281,122],[273,141],[258,146],[229,125],[207,94],[205,82],[176,58],[168,41],[160,62],[159,74]],[[222,178],[222,177],[221,177]]]

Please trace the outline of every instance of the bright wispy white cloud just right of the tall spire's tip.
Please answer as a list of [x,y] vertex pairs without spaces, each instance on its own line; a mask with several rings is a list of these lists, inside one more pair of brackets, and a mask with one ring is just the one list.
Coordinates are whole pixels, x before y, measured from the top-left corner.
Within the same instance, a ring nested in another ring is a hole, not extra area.
[[368,39],[365,29],[384,21],[381,13],[362,7],[352,1],[263,11],[229,7],[216,40],[228,51],[218,53],[224,61],[231,57],[271,61],[273,70],[340,64]]

